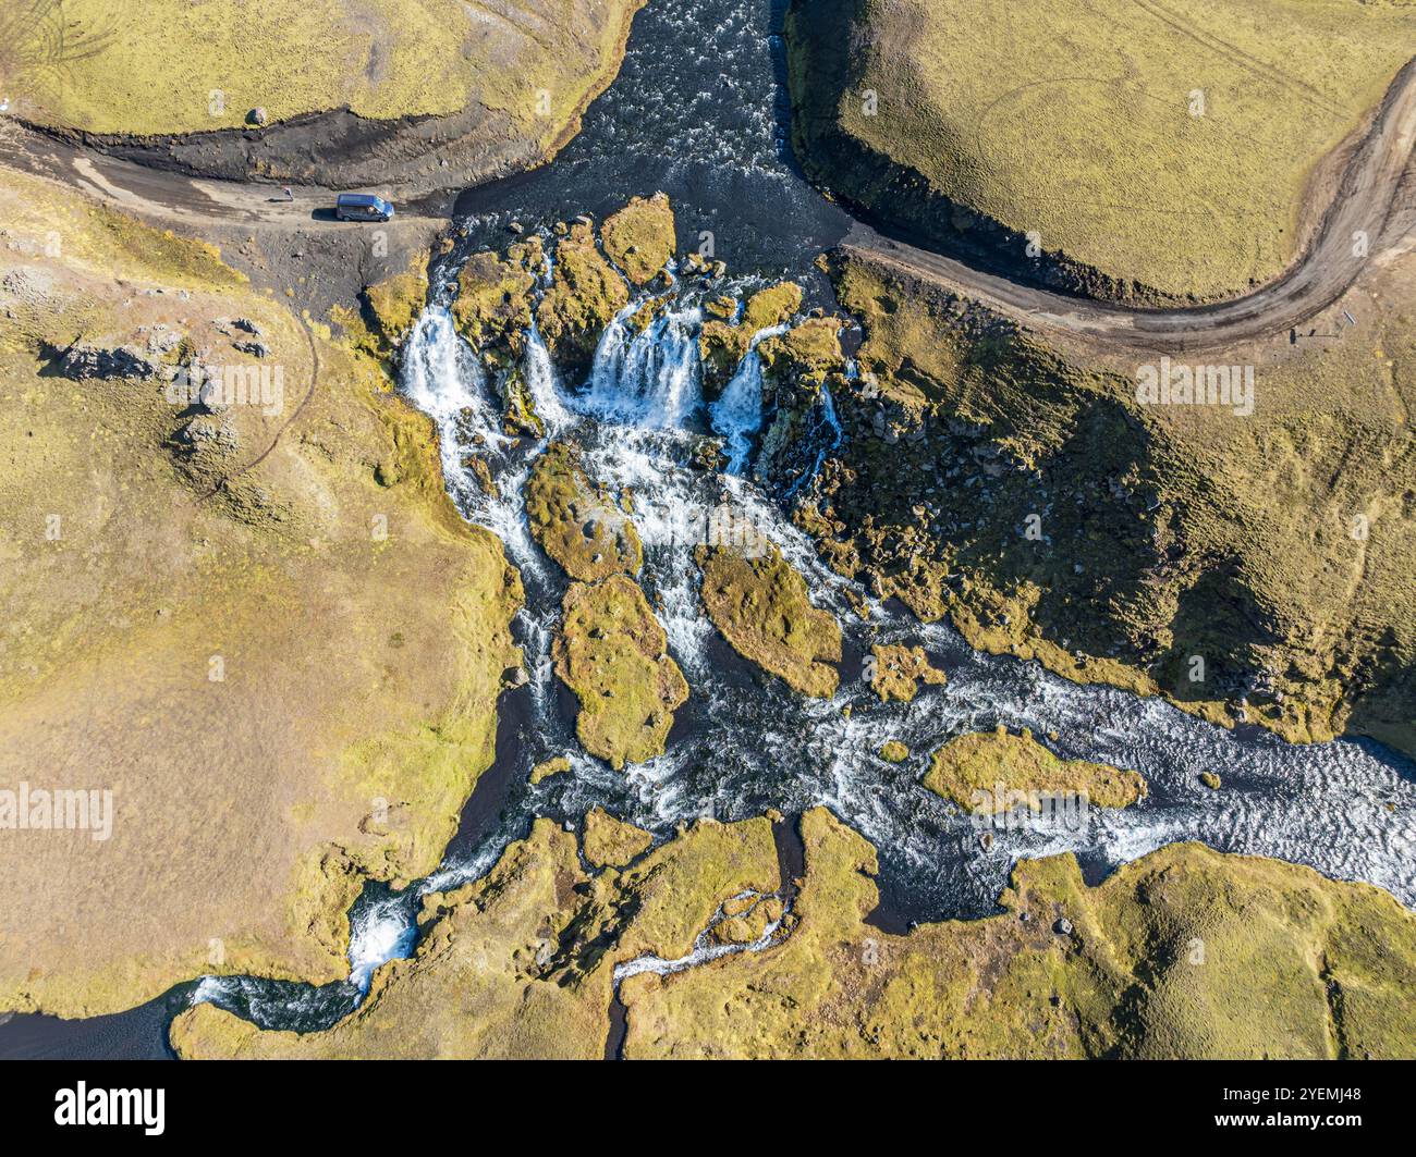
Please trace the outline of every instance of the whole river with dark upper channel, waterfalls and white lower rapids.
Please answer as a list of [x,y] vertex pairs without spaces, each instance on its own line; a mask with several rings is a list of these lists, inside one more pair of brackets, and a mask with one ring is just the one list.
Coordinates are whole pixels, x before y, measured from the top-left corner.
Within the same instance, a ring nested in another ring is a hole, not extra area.
[[[504,243],[511,221],[545,228],[666,190],[680,240],[697,248],[700,235],[711,231],[715,255],[741,274],[739,293],[762,277],[807,277],[811,257],[838,240],[850,219],[801,180],[786,147],[782,50],[773,34],[779,7],[721,0],[688,8],[653,0],[636,20],[620,78],[561,157],[457,198],[455,214],[470,239],[456,256]],[[824,293],[820,281],[814,291]],[[1296,747],[1257,728],[1228,731],[1160,700],[1078,686],[1037,663],[980,655],[950,628],[923,625],[828,571],[784,513],[784,495],[752,481],[760,420],[755,355],[722,403],[704,405],[701,314],[692,293],[643,335],[612,324],[583,382],[561,380],[530,335],[525,372],[547,440],[573,437],[596,481],[634,495],[646,543],[641,581],[691,687],[663,757],[624,772],[586,757],[573,737],[573,697],[551,670],[565,578],[532,542],[523,505],[527,474],[545,440],[513,443],[501,433],[491,385],[455,334],[446,304],[435,296],[421,317],[402,355],[401,386],[438,421],[459,509],[496,532],[521,570],[527,603],[515,634],[531,678],[503,696],[496,764],[479,782],[442,866],[402,894],[381,885],[365,890],[351,912],[347,982],[316,989],[251,977],[194,979],[116,1017],[18,1016],[0,1024],[0,1055],[170,1055],[166,1025],[194,999],[268,1027],[329,1025],[357,1004],[372,967],[413,950],[413,912],[423,893],[477,878],[508,842],[527,833],[534,816],[578,822],[595,805],[668,837],[680,820],[695,816],[733,820],[769,808],[799,815],[824,803],[878,847],[878,922],[896,929],[916,919],[993,911],[1020,856],[1075,851],[1097,880],[1119,863],[1188,839],[1311,864],[1416,904],[1410,761],[1368,741]],[[692,468],[705,433],[728,438],[732,472]],[[837,437],[827,396],[803,457],[807,468]],[[497,496],[484,494],[462,465],[474,444],[490,448]],[[803,699],[760,678],[701,612],[695,543],[685,533],[684,512],[722,506],[770,539],[806,576],[813,603],[831,610],[845,629],[841,689],[833,700]],[[868,624],[852,601],[869,604]],[[923,645],[947,672],[947,685],[923,687],[909,704],[875,704],[861,675],[864,655],[872,642],[892,641]],[[868,711],[843,711],[867,703]],[[974,825],[922,789],[918,778],[923,752],[953,734],[997,724],[1055,734],[1049,743],[1063,757],[1134,768],[1150,795],[1123,812],[1093,809],[1078,826],[1000,830],[986,846]],[[916,758],[881,760],[886,740],[903,741]],[[532,765],[562,754],[571,755],[569,775],[528,782]],[[1199,784],[1205,771],[1222,777],[1223,791]]]

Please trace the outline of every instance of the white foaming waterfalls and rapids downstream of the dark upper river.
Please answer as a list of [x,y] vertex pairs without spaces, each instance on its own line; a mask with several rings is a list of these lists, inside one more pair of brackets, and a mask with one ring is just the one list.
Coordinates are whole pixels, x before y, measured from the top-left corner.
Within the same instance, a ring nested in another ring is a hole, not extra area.
[[[527,719],[510,748],[498,744],[498,762],[513,764],[511,786],[490,829],[473,846],[449,853],[435,874],[405,893],[365,891],[350,912],[348,980],[317,989],[204,977],[194,1001],[212,1000],[268,1027],[326,1027],[357,1006],[381,963],[412,952],[421,897],[484,876],[507,843],[525,835],[532,816],[573,826],[595,805],[661,839],[697,816],[735,820],[767,808],[796,813],[830,806],[878,847],[882,884],[919,919],[994,911],[1020,856],[1075,851],[1095,868],[1182,839],[1307,863],[1416,902],[1416,777],[1409,761],[1371,743],[1294,747],[1267,734],[1226,731],[1160,700],[1078,686],[1037,663],[980,655],[952,628],[922,624],[882,604],[830,571],[810,537],[745,472],[692,467],[708,417],[697,364],[701,315],[691,308],[666,311],[634,334],[626,322],[639,304],[626,308],[600,342],[585,389],[568,389],[558,379],[535,331],[527,335],[523,372],[548,437],[573,437],[593,481],[632,498],[646,557],[639,578],[691,687],[668,751],[617,772],[576,745],[573,714],[565,709],[551,661],[565,577],[534,543],[524,509],[525,481],[544,443],[501,431],[500,403],[487,376],[453,331],[446,308],[429,306],[404,355],[404,392],[438,424],[459,509],[501,537],[525,586],[515,628],[530,675],[530,685],[517,692]],[[739,373],[749,373],[746,365]],[[816,444],[826,446],[816,455],[818,467],[841,429],[828,393],[818,403],[817,423],[823,440]],[[731,430],[748,434],[750,426],[750,417],[729,426],[729,438]],[[463,464],[469,454],[487,458],[494,494]],[[794,485],[809,482],[810,471]],[[704,523],[684,513],[718,508],[732,509],[770,540],[804,576],[811,601],[841,624],[847,661],[831,700],[803,699],[779,680],[755,675],[704,615],[691,529]],[[852,604],[868,610],[864,622]],[[947,685],[926,686],[910,703],[878,703],[851,659],[872,642],[923,645],[947,670]],[[847,706],[868,710],[847,717]],[[1150,795],[1121,812],[1090,809],[1075,827],[1005,826],[981,840],[976,822],[925,791],[919,778],[927,752],[940,743],[998,724],[1029,727],[1066,758],[1134,768],[1147,778]],[[905,743],[912,758],[882,760],[888,740]],[[531,786],[531,767],[552,755],[569,755],[571,771]],[[1201,771],[1218,771],[1223,791],[1204,788]],[[721,918],[719,909],[714,919]],[[670,973],[732,952],[763,950],[784,935],[773,925],[756,943],[718,945],[712,926],[684,958],[649,955],[619,965],[616,984],[640,972]]]

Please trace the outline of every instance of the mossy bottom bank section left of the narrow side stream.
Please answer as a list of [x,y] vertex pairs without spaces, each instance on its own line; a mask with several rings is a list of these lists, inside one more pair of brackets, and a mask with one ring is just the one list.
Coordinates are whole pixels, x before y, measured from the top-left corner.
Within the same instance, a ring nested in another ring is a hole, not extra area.
[[486,878],[425,900],[416,955],[378,969],[334,1028],[262,1031],[200,1004],[171,1042],[183,1058],[599,1058],[616,963],[683,956],[719,905],[779,885],[765,819],[700,822],[595,877],[575,836],[538,819]]

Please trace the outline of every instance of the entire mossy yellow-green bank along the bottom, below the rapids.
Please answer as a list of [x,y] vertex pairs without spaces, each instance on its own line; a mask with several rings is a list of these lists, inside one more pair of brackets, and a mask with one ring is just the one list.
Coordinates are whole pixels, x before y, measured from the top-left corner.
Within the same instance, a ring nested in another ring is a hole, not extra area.
[[[1072,856],[1022,861],[1000,915],[867,924],[875,850],[826,809],[784,939],[623,982],[627,1057],[1412,1057],[1416,917],[1365,884],[1171,844],[1087,887]],[[184,1058],[599,1057],[613,966],[684,955],[780,915],[770,825],[700,823],[588,876],[539,819],[484,880],[428,897],[416,955],[324,1033],[262,1031],[201,1004]],[[756,900],[752,893],[765,895]],[[1062,924],[1066,921],[1066,924]],[[429,1010],[436,1011],[430,1016]]]

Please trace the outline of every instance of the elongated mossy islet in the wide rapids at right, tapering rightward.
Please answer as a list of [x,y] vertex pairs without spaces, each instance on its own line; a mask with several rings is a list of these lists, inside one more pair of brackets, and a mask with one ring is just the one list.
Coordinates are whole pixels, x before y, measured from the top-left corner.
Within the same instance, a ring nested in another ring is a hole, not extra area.
[[932,792],[980,815],[1020,803],[1037,810],[1048,795],[1085,795],[1099,808],[1127,808],[1146,795],[1146,781],[1134,771],[1059,760],[1029,730],[1011,736],[1003,727],[946,743],[935,752],[923,782]]

